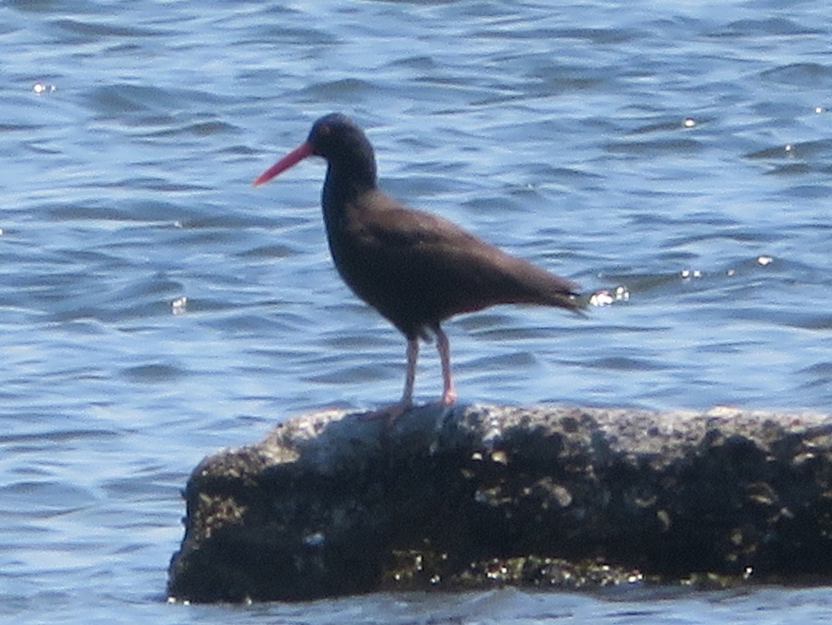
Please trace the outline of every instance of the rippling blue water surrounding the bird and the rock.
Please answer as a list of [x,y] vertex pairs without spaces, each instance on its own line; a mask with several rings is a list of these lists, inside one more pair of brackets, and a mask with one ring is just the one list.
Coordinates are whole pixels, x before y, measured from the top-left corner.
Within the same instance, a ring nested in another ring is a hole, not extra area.
[[0,3],[0,620],[827,621],[825,587],[164,585],[203,455],[399,396],[404,340],[329,261],[323,165],[250,185],[329,111],[399,199],[629,290],[449,322],[462,401],[828,410],[830,32],[818,0]]

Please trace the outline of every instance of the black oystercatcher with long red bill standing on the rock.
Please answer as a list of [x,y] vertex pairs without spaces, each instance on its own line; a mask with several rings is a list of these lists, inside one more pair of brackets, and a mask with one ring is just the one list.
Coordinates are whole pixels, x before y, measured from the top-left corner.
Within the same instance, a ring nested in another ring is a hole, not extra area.
[[503,303],[577,311],[577,284],[485,243],[458,225],[406,208],[376,184],[373,146],[348,117],[314,122],[309,137],[255,180],[261,185],[310,155],[327,161],[321,204],[335,268],[359,298],[408,339],[402,399],[379,411],[395,417],[413,401],[418,339],[436,337],[444,389],[453,404],[448,317]]

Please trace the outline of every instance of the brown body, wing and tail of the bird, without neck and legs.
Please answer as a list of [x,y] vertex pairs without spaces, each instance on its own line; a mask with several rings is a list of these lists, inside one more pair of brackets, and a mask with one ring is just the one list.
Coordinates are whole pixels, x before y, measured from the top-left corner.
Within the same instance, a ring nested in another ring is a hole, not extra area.
[[349,207],[360,213],[346,220],[349,252],[333,253],[349,286],[405,334],[499,303],[578,308],[576,284],[377,193]]

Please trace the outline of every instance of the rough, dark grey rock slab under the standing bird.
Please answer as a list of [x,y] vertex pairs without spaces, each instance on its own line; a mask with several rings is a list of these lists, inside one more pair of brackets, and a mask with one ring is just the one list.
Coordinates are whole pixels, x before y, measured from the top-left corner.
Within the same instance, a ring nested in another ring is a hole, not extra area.
[[185,499],[168,593],[196,602],[828,578],[832,417],[324,411],[206,458]]

